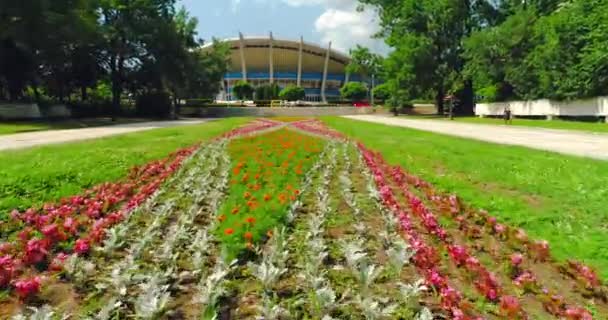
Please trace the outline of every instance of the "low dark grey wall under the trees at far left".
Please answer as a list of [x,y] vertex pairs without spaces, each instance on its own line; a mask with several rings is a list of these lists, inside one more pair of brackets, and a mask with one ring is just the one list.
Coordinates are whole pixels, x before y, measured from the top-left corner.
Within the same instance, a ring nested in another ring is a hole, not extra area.
[[68,118],[72,115],[65,105],[41,108],[35,103],[0,103],[0,120],[31,120],[41,118]]

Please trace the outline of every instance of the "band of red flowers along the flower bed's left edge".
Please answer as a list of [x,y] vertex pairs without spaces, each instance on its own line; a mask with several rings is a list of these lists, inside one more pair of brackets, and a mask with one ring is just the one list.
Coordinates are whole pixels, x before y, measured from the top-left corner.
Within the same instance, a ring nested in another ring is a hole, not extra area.
[[[222,136],[232,138],[277,124],[255,122]],[[0,289],[12,287],[26,298],[40,289],[38,274],[59,271],[72,253],[86,255],[112,226],[154,194],[200,145],[183,148],[168,157],[131,169],[124,181],[103,183],[81,195],[47,203],[25,212],[14,210],[0,224],[8,241],[0,243]]]

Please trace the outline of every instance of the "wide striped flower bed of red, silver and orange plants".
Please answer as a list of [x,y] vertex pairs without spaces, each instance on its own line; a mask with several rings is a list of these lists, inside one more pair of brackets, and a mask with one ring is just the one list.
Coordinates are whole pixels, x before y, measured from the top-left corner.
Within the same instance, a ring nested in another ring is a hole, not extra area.
[[594,270],[311,119],[257,121],[2,228],[0,318],[608,314]]

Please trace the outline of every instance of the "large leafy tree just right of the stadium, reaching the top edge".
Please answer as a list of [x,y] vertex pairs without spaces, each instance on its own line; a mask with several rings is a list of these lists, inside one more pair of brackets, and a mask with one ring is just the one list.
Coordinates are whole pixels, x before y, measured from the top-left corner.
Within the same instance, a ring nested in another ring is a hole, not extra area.
[[[493,1],[483,0],[360,0],[375,8],[381,20],[379,36],[394,50],[384,63],[385,81],[395,96],[406,99],[432,93],[443,112],[443,98],[457,87],[471,93],[462,74],[462,42],[474,30],[499,21]],[[401,99],[401,98],[400,98]],[[472,111],[472,94],[465,112]]]

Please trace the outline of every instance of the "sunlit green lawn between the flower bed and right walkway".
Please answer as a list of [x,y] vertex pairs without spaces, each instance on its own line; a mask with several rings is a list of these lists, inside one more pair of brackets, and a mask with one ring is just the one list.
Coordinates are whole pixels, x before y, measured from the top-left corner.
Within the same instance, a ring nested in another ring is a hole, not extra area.
[[608,278],[608,162],[327,117],[438,188],[487,209]]

